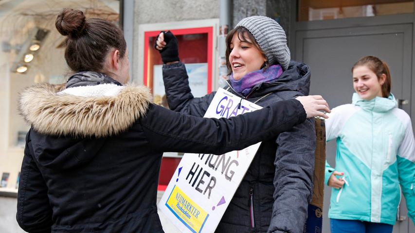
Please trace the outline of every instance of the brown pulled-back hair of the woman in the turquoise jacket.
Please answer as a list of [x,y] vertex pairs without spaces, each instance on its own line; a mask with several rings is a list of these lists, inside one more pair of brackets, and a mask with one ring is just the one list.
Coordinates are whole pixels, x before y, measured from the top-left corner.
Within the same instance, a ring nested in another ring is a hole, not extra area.
[[366,66],[370,70],[372,70],[376,76],[378,77],[378,81],[380,80],[380,77],[382,74],[386,75],[385,82],[382,84],[382,96],[384,98],[388,98],[389,94],[391,93],[391,73],[389,72],[389,67],[386,62],[381,61],[379,58],[375,56],[365,56],[359,59],[355,65],[352,67],[352,73],[353,70],[356,67],[360,66]]

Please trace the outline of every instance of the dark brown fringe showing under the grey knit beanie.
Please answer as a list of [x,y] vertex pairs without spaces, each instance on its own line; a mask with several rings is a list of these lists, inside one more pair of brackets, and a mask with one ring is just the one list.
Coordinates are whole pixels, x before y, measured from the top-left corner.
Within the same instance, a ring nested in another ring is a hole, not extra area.
[[[256,40],[255,40],[255,37],[253,37],[253,34],[252,33],[250,33],[249,31],[248,31],[248,29],[246,29],[246,28],[244,28],[244,27],[241,27],[241,26],[238,26],[238,27],[236,27],[236,28],[234,28],[234,29],[232,29],[229,33],[228,33],[228,35],[226,36],[226,53],[225,53],[225,56],[226,56],[226,67],[228,68],[228,75],[230,75],[231,73],[232,73],[232,66],[231,66],[231,63],[229,62],[229,55],[231,54],[231,52],[232,52],[232,49],[231,49],[231,43],[232,43],[232,39],[234,38],[234,34],[235,33],[237,33],[237,35],[238,35],[238,39],[240,40],[240,41],[243,41],[243,42],[248,42],[248,40],[247,40],[247,37],[246,37],[246,35],[248,36],[248,38],[249,38],[249,40],[251,40],[252,41],[252,44],[261,52],[261,54],[262,55],[264,55],[264,57],[265,57],[265,52],[264,52],[264,50],[262,50],[260,47],[259,47],[259,45],[258,45],[258,43],[256,43]],[[249,42],[248,42],[249,43]],[[264,64],[265,65],[265,64]],[[262,67],[261,67],[262,68]]]

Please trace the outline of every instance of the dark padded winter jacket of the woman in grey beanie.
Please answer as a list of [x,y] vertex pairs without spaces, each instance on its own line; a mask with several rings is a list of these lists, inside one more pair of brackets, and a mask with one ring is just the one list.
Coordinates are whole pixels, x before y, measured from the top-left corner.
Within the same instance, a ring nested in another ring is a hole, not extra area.
[[[163,80],[170,109],[180,113],[203,116],[215,95],[194,98],[182,63],[163,65]],[[278,79],[255,85],[245,99],[266,107],[308,95],[309,86],[308,66],[291,61]],[[230,83],[225,89],[238,95]],[[315,142],[313,119],[264,140],[216,232],[303,232],[312,198]]]

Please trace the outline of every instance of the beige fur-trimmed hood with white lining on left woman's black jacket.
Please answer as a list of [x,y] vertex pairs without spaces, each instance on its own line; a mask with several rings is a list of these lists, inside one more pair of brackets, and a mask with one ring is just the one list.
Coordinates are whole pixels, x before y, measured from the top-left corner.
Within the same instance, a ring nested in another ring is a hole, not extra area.
[[107,137],[126,131],[147,110],[145,86],[100,84],[65,89],[40,83],[26,88],[20,115],[39,133],[54,136]]

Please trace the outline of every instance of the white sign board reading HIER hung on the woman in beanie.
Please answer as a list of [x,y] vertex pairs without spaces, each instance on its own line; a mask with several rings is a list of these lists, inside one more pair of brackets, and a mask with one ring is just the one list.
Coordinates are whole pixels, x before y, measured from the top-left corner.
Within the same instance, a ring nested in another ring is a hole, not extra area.
[[[229,118],[261,108],[219,88],[204,117]],[[260,144],[222,155],[184,154],[159,209],[183,233],[214,232]]]

